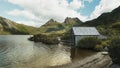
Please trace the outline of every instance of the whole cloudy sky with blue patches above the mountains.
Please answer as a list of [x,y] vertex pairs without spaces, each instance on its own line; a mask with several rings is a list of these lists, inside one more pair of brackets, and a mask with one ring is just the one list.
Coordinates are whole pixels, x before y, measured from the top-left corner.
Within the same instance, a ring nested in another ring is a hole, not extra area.
[[63,22],[66,17],[85,22],[118,6],[120,0],[0,0],[0,16],[39,27],[50,19]]

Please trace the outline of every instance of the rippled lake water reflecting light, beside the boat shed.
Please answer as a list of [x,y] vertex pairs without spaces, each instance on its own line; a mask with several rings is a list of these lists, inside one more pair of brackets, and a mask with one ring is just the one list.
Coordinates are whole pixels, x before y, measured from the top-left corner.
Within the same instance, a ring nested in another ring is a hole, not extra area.
[[[71,63],[70,47],[29,41],[31,35],[0,35],[0,68],[43,68]],[[77,50],[75,60],[93,52]]]

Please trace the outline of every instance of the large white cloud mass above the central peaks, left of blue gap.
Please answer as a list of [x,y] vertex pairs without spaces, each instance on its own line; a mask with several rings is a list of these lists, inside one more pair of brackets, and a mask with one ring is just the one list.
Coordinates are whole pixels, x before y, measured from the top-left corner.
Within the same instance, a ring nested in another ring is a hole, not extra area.
[[[14,9],[8,12],[13,16],[24,16],[34,22],[44,24],[49,19],[55,19],[63,22],[66,17],[78,17],[80,20],[85,21],[86,16],[82,16],[77,10],[84,7],[83,0],[8,0],[12,4],[19,5],[24,10]],[[85,0],[92,1],[92,0]]]

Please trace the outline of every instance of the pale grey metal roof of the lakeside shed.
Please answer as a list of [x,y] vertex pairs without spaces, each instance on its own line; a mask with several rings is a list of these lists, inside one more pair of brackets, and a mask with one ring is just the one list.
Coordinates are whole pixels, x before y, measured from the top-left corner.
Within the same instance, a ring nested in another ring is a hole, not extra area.
[[100,35],[95,27],[73,27],[74,35]]

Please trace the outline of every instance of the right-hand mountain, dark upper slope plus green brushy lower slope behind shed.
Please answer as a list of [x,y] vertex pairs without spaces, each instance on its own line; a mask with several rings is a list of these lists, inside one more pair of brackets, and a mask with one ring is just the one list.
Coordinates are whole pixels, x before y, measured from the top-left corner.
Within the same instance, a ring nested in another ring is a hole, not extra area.
[[108,37],[120,35],[120,6],[112,12],[103,13],[98,18],[87,21],[80,26],[94,26]]

